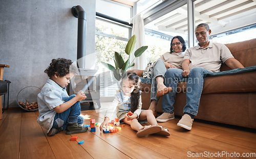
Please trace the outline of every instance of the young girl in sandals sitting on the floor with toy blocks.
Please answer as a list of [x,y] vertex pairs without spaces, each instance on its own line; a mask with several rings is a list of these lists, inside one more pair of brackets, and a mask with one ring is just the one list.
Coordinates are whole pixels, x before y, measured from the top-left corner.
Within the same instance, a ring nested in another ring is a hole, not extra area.
[[[152,110],[141,110],[142,103],[139,83],[139,77],[136,73],[126,73],[122,79],[122,91],[116,94],[113,101],[117,104],[117,117],[119,121],[131,125],[132,129],[137,131],[137,137],[144,137],[152,133],[169,136],[168,129],[157,124]],[[132,116],[126,115],[129,111],[133,112]],[[104,121],[100,125],[100,131],[104,126],[108,126],[111,114],[112,111],[108,109],[105,113]],[[150,125],[143,127],[138,120],[145,119],[147,119]]]

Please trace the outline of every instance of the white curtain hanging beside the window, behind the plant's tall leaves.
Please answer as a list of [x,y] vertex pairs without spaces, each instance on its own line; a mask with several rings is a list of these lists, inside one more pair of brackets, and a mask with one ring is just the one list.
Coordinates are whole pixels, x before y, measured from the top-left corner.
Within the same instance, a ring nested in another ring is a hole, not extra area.
[[[136,44],[134,47],[134,51],[131,56],[131,62],[135,58],[134,52],[139,49],[142,46],[145,46],[145,31],[144,31],[144,21],[141,14],[136,15],[132,19],[133,22],[133,30],[132,30],[132,36],[136,35]],[[135,58],[134,60],[134,66],[131,67],[131,69],[138,69],[138,70],[144,70],[146,67],[146,51],[140,56]]]

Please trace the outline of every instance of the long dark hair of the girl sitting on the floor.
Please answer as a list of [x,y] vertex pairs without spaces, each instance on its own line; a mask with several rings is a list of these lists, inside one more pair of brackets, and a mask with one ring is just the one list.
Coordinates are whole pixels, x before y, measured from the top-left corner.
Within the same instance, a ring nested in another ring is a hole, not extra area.
[[123,79],[121,81],[121,84],[123,83],[124,79],[128,79],[129,81],[133,81],[133,84],[135,85],[135,88],[133,92],[131,93],[131,109],[130,111],[134,112],[136,109],[138,109],[139,106],[139,98],[140,98],[140,78],[137,76],[134,72],[129,72],[124,74]]

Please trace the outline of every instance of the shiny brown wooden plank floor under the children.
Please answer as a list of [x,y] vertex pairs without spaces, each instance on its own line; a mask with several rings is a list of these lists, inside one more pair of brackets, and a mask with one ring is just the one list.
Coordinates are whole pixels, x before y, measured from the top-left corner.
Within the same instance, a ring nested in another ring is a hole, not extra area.
[[[86,117],[103,121],[106,109],[82,111]],[[0,158],[256,158],[256,131],[230,125],[195,120],[191,131],[176,124],[180,117],[159,123],[170,130],[170,137],[149,135],[137,138],[129,125],[115,133],[96,132],[53,137],[37,124],[38,111],[5,110],[0,120]],[[71,141],[78,136],[78,141]],[[79,141],[84,141],[79,145]],[[226,154],[224,154],[226,153]],[[228,157],[229,154],[229,157]],[[254,155],[254,156],[253,156]]]

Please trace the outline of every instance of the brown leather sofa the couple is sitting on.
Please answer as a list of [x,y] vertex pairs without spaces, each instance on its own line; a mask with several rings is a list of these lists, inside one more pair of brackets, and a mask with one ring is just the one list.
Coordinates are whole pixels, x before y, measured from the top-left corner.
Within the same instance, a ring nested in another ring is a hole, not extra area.
[[[245,67],[256,65],[256,38],[226,44],[234,58]],[[222,64],[221,71],[230,70]],[[143,70],[131,70],[142,77]],[[179,82],[174,104],[175,115],[183,115],[186,104],[186,82]],[[142,108],[150,106],[151,84],[141,83]],[[156,110],[162,112],[162,98]],[[200,106],[196,119],[256,128],[256,71],[205,78]]]

